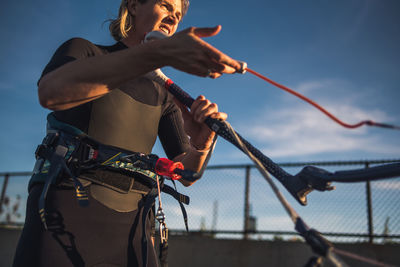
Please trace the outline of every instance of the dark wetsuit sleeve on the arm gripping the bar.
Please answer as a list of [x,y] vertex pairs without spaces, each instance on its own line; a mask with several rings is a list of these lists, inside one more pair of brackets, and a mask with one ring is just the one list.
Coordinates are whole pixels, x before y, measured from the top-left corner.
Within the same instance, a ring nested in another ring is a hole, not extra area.
[[168,93],[168,105],[158,126],[158,136],[169,159],[188,151],[190,141],[183,128],[183,118],[179,107]]

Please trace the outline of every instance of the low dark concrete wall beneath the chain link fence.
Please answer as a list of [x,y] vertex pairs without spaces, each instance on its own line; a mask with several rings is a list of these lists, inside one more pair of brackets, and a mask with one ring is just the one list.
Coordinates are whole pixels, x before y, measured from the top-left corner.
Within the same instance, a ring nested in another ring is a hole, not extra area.
[[[10,267],[20,230],[0,228],[0,267]],[[400,266],[400,245],[335,244],[339,249]],[[170,267],[304,266],[311,249],[302,242],[245,241],[171,236]],[[344,258],[349,266],[373,266]],[[324,266],[332,266],[325,264]]]

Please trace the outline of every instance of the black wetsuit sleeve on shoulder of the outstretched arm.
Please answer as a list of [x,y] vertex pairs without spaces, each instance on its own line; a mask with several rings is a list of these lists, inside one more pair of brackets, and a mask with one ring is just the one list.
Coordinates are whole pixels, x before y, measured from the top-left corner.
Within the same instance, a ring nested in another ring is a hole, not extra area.
[[80,58],[94,56],[96,50],[97,47],[94,44],[82,38],[72,38],[66,41],[56,50],[56,52],[50,59],[50,62],[44,68],[42,75],[39,78],[39,81],[47,73],[61,67],[68,62]]

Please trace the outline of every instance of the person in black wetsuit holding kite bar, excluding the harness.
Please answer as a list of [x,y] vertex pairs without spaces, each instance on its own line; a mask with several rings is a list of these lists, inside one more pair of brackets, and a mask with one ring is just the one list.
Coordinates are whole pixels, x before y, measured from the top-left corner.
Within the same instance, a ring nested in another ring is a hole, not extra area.
[[[204,96],[187,110],[143,75],[171,66],[218,78],[241,66],[202,39],[218,34],[220,26],[175,34],[187,7],[187,0],[123,0],[119,17],[110,24],[117,43],[103,46],[73,38],[62,44],[38,82],[40,104],[57,120],[105,145],[150,153],[158,136],[170,159],[199,171],[214,138],[203,122],[207,116],[225,120],[227,115]],[[154,30],[169,38],[144,44],[146,33]],[[115,186],[120,175],[101,174],[110,183],[96,182],[96,175],[100,174],[79,177],[89,192],[88,207],[77,204],[68,177],[50,188],[48,231],[38,214],[43,181],[30,181],[26,222],[13,266],[142,266],[140,239],[149,239],[154,226],[153,212],[145,233],[141,230],[146,181],[135,177],[129,192],[120,192]],[[157,266],[151,242],[147,251],[148,266]]]

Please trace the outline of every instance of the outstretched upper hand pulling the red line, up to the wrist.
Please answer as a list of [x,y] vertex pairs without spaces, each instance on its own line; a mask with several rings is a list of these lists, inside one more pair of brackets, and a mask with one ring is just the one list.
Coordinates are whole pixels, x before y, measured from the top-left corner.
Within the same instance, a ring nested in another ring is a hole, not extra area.
[[223,73],[241,71],[241,64],[226,54],[222,53],[203,37],[217,35],[221,30],[218,25],[214,28],[190,27],[180,31],[170,38],[160,40],[163,42],[161,53],[165,53],[166,65],[178,70],[202,76],[218,78]]

